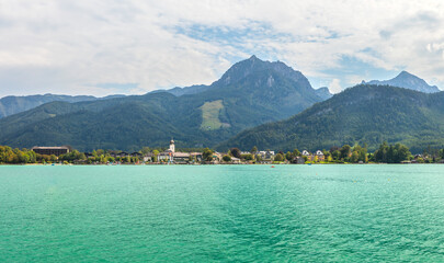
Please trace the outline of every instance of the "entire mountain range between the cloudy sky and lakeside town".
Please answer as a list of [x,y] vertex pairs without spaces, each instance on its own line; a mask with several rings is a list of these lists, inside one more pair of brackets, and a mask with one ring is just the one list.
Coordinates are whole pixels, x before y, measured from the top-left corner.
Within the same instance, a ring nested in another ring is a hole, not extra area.
[[383,141],[403,142],[412,151],[444,146],[444,92],[413,75],[402,71],[332,95],[285,64],[255,56],[210,85],[100,99],[8,96],[0,100],[0,112],[5,116],[0,145],[12,147],[138,150],[164,147],[171,138],[178,147],[224,151],[343,144],[367,144],[372,150]]

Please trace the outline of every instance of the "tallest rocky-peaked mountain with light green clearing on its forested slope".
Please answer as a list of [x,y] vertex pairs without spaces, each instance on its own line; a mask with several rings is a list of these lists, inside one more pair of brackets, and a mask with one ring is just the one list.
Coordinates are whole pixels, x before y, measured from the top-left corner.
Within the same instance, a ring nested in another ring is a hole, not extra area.
[[0,145],[130,150],[167,146],[173,137],[178,147],[213,146],[319,101],[322,99],[299,71],[252,56],[194,94],[155,92],[105,101],[54,102],[5,117],[0,119]]

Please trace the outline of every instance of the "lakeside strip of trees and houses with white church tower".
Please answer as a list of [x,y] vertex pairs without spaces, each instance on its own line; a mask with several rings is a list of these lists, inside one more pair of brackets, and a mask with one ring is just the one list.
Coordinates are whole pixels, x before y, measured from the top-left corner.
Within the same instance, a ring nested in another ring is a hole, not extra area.
[[366,145],[353,147],[331,147],[329,150],[293,152],[231,148],[228,152],[217,152],[209,148],[202,150],[177,150],[174,140],[167,149],[144,147],[140,151],[94,150],[79,152],[69,146],[33,147],[12,149],[0,146],[0,164],[315,164],[315,163],[444,163],[444,149],[426,149],[422,155],[411,155],[400,144],[382,144],[373,152]]

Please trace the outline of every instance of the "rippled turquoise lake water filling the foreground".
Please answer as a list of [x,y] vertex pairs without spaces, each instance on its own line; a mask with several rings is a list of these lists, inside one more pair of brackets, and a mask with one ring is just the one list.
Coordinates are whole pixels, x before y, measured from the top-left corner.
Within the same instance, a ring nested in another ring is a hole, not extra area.
[[0,262],[444,262],[444,165],[0,167]]

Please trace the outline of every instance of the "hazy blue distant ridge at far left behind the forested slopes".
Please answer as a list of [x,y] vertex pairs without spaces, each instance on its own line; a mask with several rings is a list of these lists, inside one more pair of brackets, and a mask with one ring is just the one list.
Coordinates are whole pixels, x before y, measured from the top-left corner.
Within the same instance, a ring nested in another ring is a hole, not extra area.
[[0,118],[13,115],[15,113],[24,112],[30,108],[39,106],[42,104],[62,101],[62,102],[81,102],[81,101],[95,101],[104,100],[123,95],[111,95],[105,98],[95,98],[90,95],[56,95],[56,94],[44,94],[44,95],[26,95],[26,96],[4,96],[0,99]]

